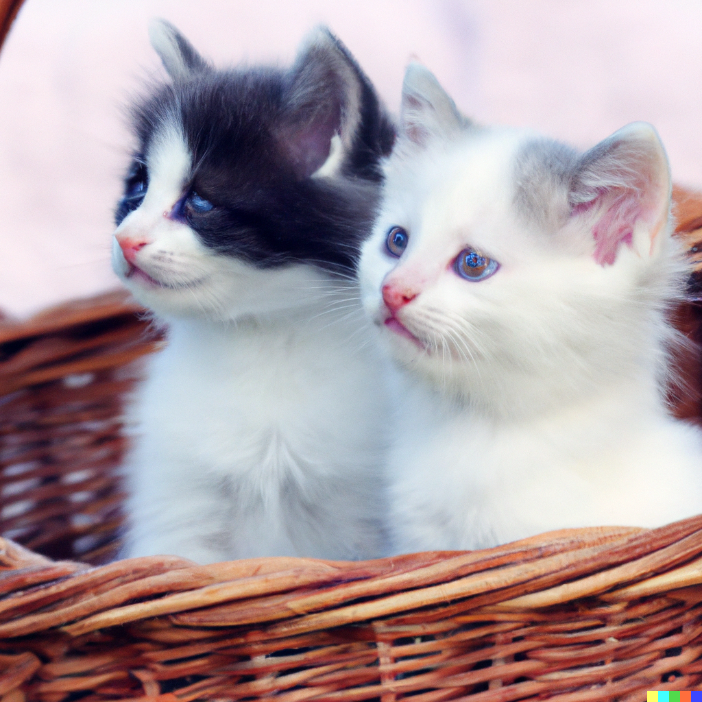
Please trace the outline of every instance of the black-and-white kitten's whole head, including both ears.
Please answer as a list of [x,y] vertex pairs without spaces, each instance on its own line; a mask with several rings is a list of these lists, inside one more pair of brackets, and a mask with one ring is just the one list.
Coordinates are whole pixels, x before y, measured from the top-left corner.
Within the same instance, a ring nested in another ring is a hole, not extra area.
[[138,140],[117,206],[114,270],[165,316],[303,308],[350,278],[392,125],[324,30],[288,72],[217,70],[166,22],[152,44],[173,82],[133,107]]

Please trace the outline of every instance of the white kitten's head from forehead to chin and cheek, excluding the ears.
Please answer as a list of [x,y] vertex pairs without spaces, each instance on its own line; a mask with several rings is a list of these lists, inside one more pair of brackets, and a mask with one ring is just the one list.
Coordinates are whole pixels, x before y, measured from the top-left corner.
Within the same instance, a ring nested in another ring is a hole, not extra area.
[[655,285],[651,234],[621,230],[616,265],[599,260],[609,254],[598,256],[593,223],[614,215],[569,204],[553,164],[575,158],[477,128],[393,155],[359,277],[400,364],[484,405],[524,378],[568,391],[582,374],[621,370],[618,339],[637,343],[644,286]]

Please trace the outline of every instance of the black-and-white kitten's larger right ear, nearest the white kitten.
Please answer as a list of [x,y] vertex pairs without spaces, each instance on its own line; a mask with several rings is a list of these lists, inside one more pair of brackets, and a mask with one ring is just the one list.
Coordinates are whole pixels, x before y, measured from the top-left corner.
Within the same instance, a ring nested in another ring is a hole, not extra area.
[[338,135],[349,152],[361,121],[368,80],[347,48],[319,27],[300,47],[286,77],[284,122],[279,140],[299,178],[324,164]]

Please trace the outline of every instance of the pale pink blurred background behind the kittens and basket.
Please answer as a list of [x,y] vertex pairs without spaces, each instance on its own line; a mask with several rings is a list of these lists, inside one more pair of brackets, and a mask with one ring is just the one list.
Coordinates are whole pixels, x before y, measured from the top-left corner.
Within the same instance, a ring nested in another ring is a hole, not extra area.
[[652,122],[702,186],[700,0],[27,0],[0,60],[0,307],[24,317],[119,285],[121,105],[161,67],[149,18],[218,64],[286,64],[325,22],[393,112],[412,56],[482,122],[588,147]]

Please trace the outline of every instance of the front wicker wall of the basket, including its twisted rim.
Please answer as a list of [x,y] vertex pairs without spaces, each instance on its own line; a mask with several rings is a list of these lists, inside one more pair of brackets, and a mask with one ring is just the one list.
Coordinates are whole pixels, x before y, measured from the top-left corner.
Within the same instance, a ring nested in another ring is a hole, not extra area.
[[3,701],[633,702],[702,682],[702,517],[360,563],[4,546]]

